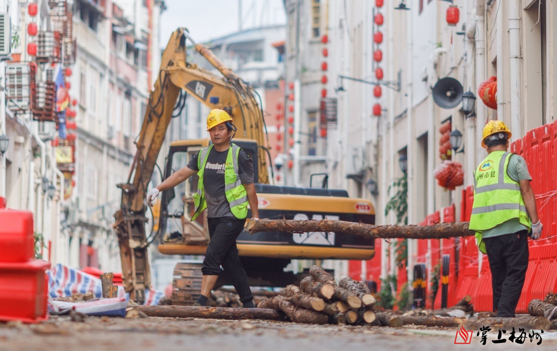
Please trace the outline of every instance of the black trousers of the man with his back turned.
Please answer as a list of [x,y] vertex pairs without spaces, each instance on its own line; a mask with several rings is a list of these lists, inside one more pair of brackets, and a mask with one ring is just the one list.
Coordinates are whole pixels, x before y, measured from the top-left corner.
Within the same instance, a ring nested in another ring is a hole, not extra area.
[[528,232],[521,230],[483,241],[491,269],[493,310],[497,317],[515,317],[528,268]]

